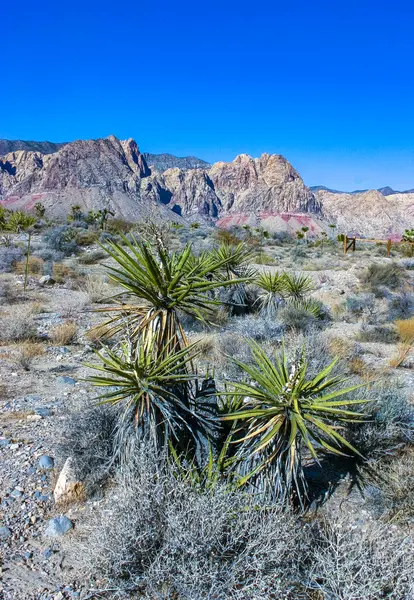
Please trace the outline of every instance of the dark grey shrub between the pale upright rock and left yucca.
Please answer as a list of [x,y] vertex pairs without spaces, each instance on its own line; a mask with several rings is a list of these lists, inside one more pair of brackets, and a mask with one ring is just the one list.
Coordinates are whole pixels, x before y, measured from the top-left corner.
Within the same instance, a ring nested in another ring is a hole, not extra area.
[[118,413],[113,407],[97,405],[67,413],[56,446],[63,465],[72,457],[75,475],[87,493],[94,493],[112,473],[113,440]]

